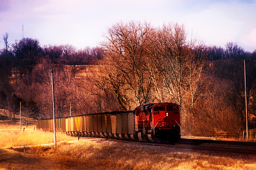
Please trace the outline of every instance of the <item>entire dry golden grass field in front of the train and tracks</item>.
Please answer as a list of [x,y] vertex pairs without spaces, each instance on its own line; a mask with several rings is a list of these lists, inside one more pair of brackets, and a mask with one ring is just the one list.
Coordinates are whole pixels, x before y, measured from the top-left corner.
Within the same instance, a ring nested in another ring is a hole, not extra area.
[[[54,147],[49,144],[53,133],[34,131],[34,126],[23,132],[18,124],[0,123],[0,169],[256,169],[256,155],[125,147],[85,138],[68,142],[78,138],[63,133],[57,133]],[[26,154],[23,147],[10,149],[24,144],[34,146],[26,147]]]

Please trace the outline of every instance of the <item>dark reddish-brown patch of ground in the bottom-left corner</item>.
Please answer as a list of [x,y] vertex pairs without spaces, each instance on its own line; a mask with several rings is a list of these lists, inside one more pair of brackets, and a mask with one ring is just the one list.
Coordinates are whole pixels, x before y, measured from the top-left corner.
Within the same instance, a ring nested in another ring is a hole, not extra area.
[[12,149],[0,149],[0,169],[60,169],[47,156],[23,154]]

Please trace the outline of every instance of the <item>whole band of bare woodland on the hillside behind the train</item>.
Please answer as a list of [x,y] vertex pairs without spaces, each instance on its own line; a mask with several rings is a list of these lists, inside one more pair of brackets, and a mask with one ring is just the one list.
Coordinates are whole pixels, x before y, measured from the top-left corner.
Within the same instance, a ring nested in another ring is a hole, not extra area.
[[[236,43],[206,46],[176,23],[117,23],[99,47],[44,46],[3,36],[0,108],[34,118],[51,117],[54,70],[57,116],[132,110],[137,105],[174,102],[181,106],[185,134],[209,135],[245,128],[243,61],[247,62],[250,128],[256,126],[253,53]],[[70,105],[72,106],[70,108]],[[70,113],[70,110],[72,111]]]

